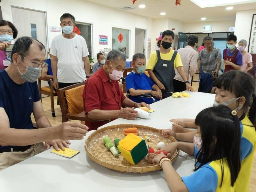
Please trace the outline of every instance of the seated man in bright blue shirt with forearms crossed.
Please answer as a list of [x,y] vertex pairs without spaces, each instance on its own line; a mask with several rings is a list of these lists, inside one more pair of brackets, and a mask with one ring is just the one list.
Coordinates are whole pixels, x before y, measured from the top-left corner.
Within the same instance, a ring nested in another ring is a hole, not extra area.
[[145,97],[135,97],[141,94],[150,94],[155,101],[162,99],[162,92],[159,87],[144,73],[146,70],[146,57],[142,53],[136,53],[132,57],[133,70],[125,78],[126,90],[130,92],[131,100],[147,104],[153,103],[153,100]]

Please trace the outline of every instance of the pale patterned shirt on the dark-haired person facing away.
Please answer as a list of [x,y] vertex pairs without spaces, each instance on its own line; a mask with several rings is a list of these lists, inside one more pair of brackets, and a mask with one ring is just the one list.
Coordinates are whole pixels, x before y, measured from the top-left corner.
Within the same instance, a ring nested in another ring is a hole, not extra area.
[[[196,61],[198,54],[191,46],[188,45],[184,48],[178,49],[177,52],[180,53],[180,58],[188,81],[191,81],[191,77],[196,73]],[[184,82],[177,69],[174,68],[174,70],[176,74],[174,79]]]

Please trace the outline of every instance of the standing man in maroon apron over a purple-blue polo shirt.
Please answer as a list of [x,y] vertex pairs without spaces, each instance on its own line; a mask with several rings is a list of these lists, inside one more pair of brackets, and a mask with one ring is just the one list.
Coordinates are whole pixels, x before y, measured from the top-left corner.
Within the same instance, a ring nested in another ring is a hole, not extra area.
[[225,65],[224,72],[230,70],[241,70],[243,65],[242,53],[236,48],[237,37],[234,34],[230,34],[227,38],[227,47],[223,50],[223,65]]

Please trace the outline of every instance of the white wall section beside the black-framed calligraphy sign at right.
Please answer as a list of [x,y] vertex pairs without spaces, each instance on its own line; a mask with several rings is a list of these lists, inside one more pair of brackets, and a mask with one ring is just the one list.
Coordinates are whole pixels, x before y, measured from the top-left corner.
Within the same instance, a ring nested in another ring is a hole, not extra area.
[[235,35],[237,36],[237,42],[241,39],[245,39],[247,41],[247,47],[250,38],[253,14],[256,14],[256,9],[236,12]]

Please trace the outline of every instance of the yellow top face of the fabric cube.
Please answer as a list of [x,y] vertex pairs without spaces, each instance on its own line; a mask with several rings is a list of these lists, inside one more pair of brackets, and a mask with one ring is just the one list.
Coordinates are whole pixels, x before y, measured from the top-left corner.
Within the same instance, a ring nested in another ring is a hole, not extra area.
[[136,145],[141,142],[141,140],[141,137],[130,133],[124,139],[119,141],[119,146],[126,149],[127,151],[131,151]]

